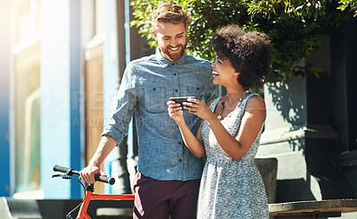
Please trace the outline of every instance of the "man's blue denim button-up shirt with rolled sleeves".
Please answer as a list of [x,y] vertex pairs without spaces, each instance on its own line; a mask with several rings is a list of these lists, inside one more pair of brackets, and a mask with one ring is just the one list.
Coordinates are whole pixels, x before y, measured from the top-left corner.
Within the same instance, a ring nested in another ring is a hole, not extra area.
[[[117,109],[102,135],[118,144],[128,133],[135,113],[140,173],[162,181],[200,179],[203,160],[185,146],[179,127],[168,114],[170,97],[194,96],[203,102],[215,97],[211,63],[186,53],[176,62],[155,55],[132,61],[127,66],[118,91]],[[199,118],[184,111],[194,134]]]

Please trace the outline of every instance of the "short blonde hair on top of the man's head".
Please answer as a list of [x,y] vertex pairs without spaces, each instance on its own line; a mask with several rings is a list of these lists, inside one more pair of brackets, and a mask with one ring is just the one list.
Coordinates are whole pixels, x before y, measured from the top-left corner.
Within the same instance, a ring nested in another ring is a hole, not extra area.
[[159,27],[159,22],[170,22],[174,24],[184,23],[185,28],[191,22],[191,13],[186,12],[178,4],[163,3],[154,7],[152,13],[152,25],[154,32],[157,31]]

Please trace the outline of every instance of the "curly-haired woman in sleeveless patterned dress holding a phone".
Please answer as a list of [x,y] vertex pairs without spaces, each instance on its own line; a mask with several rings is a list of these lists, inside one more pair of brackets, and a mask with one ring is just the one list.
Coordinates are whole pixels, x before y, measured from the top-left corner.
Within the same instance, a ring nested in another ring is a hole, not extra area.
[[197,218],[269,218],[264,184],[254,164],[265,104],[249,88],[270,72],[270,41],[258,31],[228,25],[216,31],[212,42],[217,53],[213,83],[225,87],[227,95],[207,105],[195,98],[184,102],[183,109],[203,119],[196,137],[182,107],[168,102],[188,149],[196,157],[207,156]]

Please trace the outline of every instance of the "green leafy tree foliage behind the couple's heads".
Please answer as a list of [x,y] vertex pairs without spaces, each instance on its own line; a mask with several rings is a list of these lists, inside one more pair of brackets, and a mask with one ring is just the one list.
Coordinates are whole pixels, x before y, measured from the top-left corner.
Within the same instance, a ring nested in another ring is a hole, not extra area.
[[[357,0],[341,0],[340,5],[352,6]],[[167,1],[132,0],[135,25],[139,33],[156,46],[151,33],[151,13],[155,5]],[[223,25],[235,23],[247,30],[260,30],[274,47],[272,81],[285,80],[299,74],[320,75],[320,69],[296,63],[320,48],[315,34],[336,29],[349,15],[337,11],[336,2],[326,0],[178,0],[171,1],[192,13],[188,27],[187,53],[214,60],[212,32]],[[354,9],[353,9],[354,8]],[[345,10],[340,8],[338,10]]]

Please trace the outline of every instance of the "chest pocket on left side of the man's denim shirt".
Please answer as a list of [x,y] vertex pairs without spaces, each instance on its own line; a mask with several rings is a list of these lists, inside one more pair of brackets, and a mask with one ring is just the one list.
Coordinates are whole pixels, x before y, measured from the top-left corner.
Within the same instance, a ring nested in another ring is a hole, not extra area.
[[166,103],[169,99],[166,97],[166,88],[144,88],[143,97],[143,103],[147,112],[157,114],[167,111],[168,106]]

